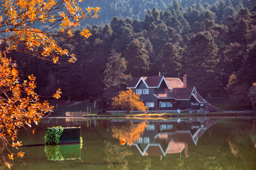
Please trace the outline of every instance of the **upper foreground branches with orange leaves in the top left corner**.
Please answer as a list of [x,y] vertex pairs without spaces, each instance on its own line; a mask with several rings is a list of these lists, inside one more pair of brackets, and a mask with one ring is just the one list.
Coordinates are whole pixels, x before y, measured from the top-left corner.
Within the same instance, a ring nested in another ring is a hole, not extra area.
[[[81,20],[98,17],[99,7],[87,7],[82,10],[78,2],[82,0],[2,0],[4,8],[0,14],[0,37],[9,46],[8,50],[18,50],[39,58],[58,63],[59,56],[67,56],[68,62],[75,62],[76,56],[62,49],[55,37],[73,37],[72,28]],[[37,29],[36,23],[41,25]],[[82,37],[88,38],[89,30],[82,30]],[[26,49],[19,49],[20,46]]]

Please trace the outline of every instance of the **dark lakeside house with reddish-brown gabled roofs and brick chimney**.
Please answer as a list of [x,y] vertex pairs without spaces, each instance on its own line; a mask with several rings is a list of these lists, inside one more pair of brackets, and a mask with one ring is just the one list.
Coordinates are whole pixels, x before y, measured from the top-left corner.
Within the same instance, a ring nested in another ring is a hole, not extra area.
[[139,94],[149,110],[218,111],[195,87],[187,87],[187,75],[183,76],[183,82],[179,78],[161,76],[160,73],[159,76],[133,77],[126,88]]

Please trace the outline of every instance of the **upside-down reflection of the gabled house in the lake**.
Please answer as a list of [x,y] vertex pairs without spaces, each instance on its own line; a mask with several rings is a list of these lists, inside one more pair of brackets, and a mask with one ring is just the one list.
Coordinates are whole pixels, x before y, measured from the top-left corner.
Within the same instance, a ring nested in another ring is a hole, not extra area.
[[188,156],[188,144],[197,145],[198,139],[213,124],[215,118],[193,118],[165,121],[149,121],[137,143],[130,145],[133,154],[166,156],[181,153]]

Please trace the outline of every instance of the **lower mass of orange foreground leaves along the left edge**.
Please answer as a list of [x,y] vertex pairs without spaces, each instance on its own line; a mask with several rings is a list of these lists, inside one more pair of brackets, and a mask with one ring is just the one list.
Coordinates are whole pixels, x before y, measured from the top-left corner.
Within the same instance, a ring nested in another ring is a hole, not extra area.
[[[15,63],[0,53],[0,141],[3,147],[0,149],[1,155],[9,146],[18,149],[22,145],[21,141],[16,139],[18,128],[31,127],[32,122],[37,125],[41,117],[53,109],[47,101],[39,101],[34,91],[36,77],[30,75],[28,80],[20,84],[16,67]],[[54,97],[59,97],[60,93],[58,90]],[[13,155],[22,158],[24,153],[11,153],[8,158],[13,160]],[[5,158],[3,160],[10,168],[11,164]]]

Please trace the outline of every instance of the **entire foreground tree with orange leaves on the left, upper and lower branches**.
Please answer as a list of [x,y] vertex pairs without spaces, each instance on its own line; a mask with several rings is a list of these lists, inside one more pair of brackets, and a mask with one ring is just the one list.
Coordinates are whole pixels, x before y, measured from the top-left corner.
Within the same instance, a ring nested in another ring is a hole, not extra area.
[[[72,39],[73,28],[80,20],[97,18],[99,7],[88,7],[83,11],[78,7],[82,0],[1,0],[3,9],[0,14],[0,153],[8,168],[11,164],[5,159],[13,155],[23,157],[22,151],[12,153],[8,147],[18,149],[18,129],[36,125],[53,107],[47,101],[39,102],[36,94],[36,77],[28,76],[22,84],[19,82],[16,64],[6,57],[10,50],[24,52],[43,60],[59,63],[59,57],[68,57],[67,62],[75,62],[76,56],[62,49],[54,39]],[[41,25],[39,28],[38,25]],[[4,36],[3,36],[4,35]],[[79,37],[88,38],[90,30],[82,30]],[[4,55],[4,56],[3,56]],[[60,97],[60,89],[53,97]],[[34,130],[33,130],[34,133]],[[10,142],[11,141],[11,142]]]

